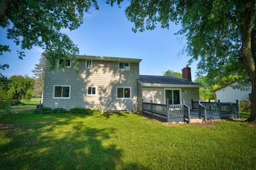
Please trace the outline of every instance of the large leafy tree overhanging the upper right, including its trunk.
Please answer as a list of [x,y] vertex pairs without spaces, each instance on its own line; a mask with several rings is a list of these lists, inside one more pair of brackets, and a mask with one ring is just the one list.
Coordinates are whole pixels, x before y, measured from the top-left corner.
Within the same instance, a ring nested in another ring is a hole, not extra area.
[[[123,0],[108,0],[120,5]],[[252,111],[256,119],[256,13],[255,0],[154,1],[130,0],[125,13],[132,30],[153,30],[158,23],[170,28],[181,25],[189,64],[198,60],[197,75],[216,84],[222,77],[237,75],[239,82],[252,84]],[[215,83],[214,83],[215,82]]]

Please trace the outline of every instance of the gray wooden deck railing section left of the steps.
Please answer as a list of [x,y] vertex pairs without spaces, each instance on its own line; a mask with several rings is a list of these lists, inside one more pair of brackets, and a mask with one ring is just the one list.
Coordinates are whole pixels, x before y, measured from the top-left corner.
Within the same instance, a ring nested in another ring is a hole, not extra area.
[[167,120],[167,122],[183,122],[187,119],[190,123],[190,109],[186,104],[158,104],[151,102],[143,102],[142,111],[148,114],[155,115]]

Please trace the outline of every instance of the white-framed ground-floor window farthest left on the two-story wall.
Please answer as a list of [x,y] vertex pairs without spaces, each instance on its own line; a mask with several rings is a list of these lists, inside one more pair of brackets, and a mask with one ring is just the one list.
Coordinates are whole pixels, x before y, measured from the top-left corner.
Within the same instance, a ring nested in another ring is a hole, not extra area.
[[53,85],[53,99],[70,99],[70,85]]

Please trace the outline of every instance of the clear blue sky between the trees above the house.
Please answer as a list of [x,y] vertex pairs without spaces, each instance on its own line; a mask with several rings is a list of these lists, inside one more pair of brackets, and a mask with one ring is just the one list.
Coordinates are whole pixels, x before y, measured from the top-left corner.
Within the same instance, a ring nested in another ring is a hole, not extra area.
[[[181,72],[189,60],[186,53],[181,54],[186,39],[174,35],[180,26],[171,24],[169,30],[159,25],[155,30],[143,33],[133,33],[133,23],[125,17],[127,4],[117,6],[99,3],[100,10],[91,9],[91,14],[85,14],[84,23],[75,31],[63,29],[75,44],[80,54],[117,56],[125,58],[140,58],[141,75],[162,75],[163,71],[173,70]],[[6,76],[26,75],[33,76],[33,70],[42,53],[42,49],[34,47],[26,51],[26,58],[18,59],[16,46],[6,38],[6,30],[0,29],[1,44],[10,45],[12,52],[0,56],[0,63],[9,63],[10,68],[3,71]],[[195,80],[196,62],[191,66],[192,79]]]

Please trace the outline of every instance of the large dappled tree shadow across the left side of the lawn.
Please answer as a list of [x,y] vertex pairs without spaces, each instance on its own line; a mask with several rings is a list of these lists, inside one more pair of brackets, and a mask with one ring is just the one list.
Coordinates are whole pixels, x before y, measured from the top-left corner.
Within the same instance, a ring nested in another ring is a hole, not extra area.
[[[48,116],[37,115],[42,121]],[[52,116],[52,115],[49,115]],[[67,116],[67,117],[66,117]],[[110,143],[115,128],[92,128],[83,115],[58,115],[50,122],[26,124],[6,131],[0,145],[0,167],[4,169],[147,169],[137,163],[124,163],[122,149]],[[73,118],[72,118],[73,117]],[[32,130],[32,131],[31,131]]]

